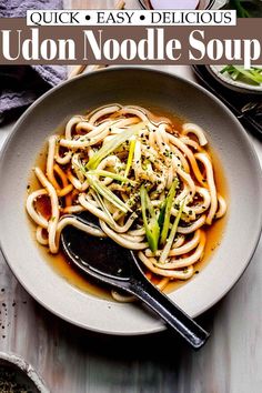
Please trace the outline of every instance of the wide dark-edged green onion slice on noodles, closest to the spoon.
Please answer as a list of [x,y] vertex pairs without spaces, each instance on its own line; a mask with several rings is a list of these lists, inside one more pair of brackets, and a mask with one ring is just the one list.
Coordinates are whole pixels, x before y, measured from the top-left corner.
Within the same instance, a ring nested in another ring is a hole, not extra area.
[[[145,190],[144,185],[142,185],[140,189],[140,198],[145,235],[149,242],[150,250],[152,252],[155,252],[158,250],[159,244],[160,228],[153,205],[150,201],[148,191]],[[147,216],[147,212],[149,213],[149,219]]]

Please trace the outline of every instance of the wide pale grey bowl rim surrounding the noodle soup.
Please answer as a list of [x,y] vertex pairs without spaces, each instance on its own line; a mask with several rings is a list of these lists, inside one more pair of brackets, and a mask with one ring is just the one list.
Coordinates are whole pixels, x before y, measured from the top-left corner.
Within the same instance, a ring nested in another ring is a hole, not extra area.
[[230,201],[221,244],[201,273],[170,298],[194,318],[239,280],[258,244],[262,219],[261,171],[251,142],[233,114],[203,88],[145,68],[80,75],[42,95],[20,118],[0,160],[1,248],[26,290],[62,319],[95,332],[153,333],[165,326],[139,303],[95,298],[56,272],[32,240],[24,210],[31,169],[48,137],[73,114],[112,102],[157,107],[195,122],[224,167]]

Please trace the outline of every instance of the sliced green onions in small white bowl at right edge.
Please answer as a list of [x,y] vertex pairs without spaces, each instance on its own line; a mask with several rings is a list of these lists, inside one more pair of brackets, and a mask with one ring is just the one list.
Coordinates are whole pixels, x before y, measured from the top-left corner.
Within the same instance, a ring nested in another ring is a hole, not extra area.
[[242,66],[225,66],[221,73],[228,72],[233,80],[243,80],[245,82],[261,84],[262,83],[262,68],[252,67],[245,70]]

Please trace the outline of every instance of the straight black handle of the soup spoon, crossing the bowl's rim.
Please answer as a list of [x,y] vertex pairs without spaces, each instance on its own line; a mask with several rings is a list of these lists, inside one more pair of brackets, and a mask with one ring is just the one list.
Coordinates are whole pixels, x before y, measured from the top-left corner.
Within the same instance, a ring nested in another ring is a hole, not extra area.
[[[143,274],[143,273],[141,273]],[[130,292],[155,311],[172,329],[180,333],[195,350],[209,337],[209,333],[175,305],[165,294],[151,284],[144,275],[130,282]]]

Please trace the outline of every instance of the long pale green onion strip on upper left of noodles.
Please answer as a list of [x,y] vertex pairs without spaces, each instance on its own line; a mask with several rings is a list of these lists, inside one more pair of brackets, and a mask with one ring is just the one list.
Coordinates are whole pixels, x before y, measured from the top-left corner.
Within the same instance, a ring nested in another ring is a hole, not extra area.
[[103,144],[99,151],[97,151],[93,157],[89,160],[87,168],[95,169],[99,163],[109,154],[111,154],[114,150],[117,150],[122,143],[129,140],[132,135],[135,135],[141,128],[143,128],[144,123],[138,123],[130,128],[130,130],[123,131],[115,137],[113,137],[109,142]]

